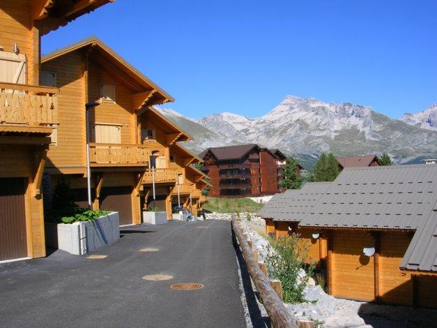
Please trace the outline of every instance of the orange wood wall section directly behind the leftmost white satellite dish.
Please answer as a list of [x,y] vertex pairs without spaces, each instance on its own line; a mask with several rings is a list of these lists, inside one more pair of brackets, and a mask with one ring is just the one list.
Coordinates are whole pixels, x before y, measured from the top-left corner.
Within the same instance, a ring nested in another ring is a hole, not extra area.
[[332,291],[335,297],[374,299],[374,258],[362,254],[373,243],[369,234],[336,231],[332,236]]

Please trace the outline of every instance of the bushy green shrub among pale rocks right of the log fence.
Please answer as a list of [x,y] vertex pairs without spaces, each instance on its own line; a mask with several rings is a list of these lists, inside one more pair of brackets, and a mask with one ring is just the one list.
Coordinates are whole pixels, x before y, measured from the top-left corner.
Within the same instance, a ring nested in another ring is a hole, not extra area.
[[[302,292],[313,270],[312,265],[305,267],[308,251],[309,246],[301,242],[296,234],[270,239],[265,260],[268,276],[281,281],[286,303],[295,304],[303,301]],[[300,278],[299,271],[305,268],[307,275]]]

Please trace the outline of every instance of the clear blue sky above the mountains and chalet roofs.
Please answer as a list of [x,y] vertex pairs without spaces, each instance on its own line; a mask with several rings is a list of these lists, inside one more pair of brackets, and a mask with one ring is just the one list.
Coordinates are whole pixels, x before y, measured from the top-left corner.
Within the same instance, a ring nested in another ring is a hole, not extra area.
[[189,117],[259,117],[287,94],[390,117],[437,101],[437,1],[116,0],[43,37],[98,36]]

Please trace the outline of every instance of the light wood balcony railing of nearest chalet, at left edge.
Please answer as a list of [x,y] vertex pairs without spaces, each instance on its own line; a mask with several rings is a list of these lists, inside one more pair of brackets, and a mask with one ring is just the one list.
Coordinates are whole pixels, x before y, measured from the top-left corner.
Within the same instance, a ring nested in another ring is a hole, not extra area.
[[59,89],[0,82],[0,125],[52,126],[58,123]]

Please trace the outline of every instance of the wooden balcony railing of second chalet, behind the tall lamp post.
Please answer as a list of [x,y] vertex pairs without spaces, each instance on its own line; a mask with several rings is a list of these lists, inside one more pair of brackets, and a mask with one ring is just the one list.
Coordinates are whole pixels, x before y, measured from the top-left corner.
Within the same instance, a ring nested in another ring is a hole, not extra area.
[[146,166],[148,148],[144,144],[100,144],[91,142],[91,166]]

